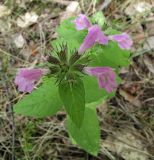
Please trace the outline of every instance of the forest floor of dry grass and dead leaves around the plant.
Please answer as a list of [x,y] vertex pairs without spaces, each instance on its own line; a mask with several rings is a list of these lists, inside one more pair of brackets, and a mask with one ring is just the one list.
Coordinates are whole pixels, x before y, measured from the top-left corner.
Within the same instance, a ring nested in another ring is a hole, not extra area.
[[[17,160],[154,160],[154,2],[76,2],[68,7],[72,1],[0,1],[0,160],[13,160],[12,152]],[[81,11],[89,16],[103,11],[108,23],[134,41],[131,64],[120,72],[116,96],[98,109],[98,157],[71,144],[63,112],[44,119],[15,115],[12,124],[11,107],[24,95],[13,82],[17,69],[41,62],[59,23]]]

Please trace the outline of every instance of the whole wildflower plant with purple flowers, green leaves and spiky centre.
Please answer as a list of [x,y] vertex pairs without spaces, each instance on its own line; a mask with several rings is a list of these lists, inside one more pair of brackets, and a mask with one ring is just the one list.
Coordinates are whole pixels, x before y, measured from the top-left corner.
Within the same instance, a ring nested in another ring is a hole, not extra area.
[[[15,78],[19,91],[30,93],[14,105],[15,113],[42,118],[64,108],[72,142],[95,156],[100,147],[96,109],[114,96],[118,71],[129,65],[132,46],[127,33],[104,22],[100,12],[90,20],[81,14],[63,21],[45,68],[21,69]],[[34,89],[40,79],[41,85]]]

